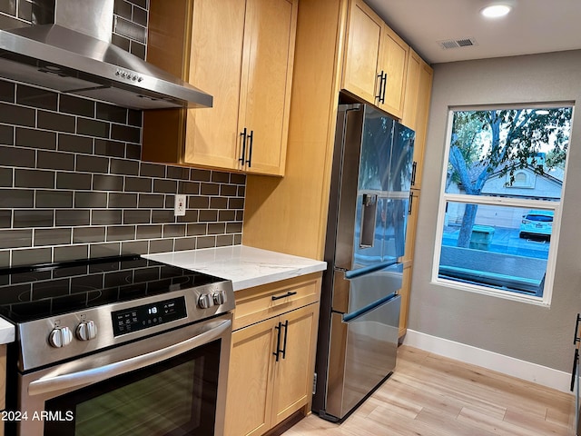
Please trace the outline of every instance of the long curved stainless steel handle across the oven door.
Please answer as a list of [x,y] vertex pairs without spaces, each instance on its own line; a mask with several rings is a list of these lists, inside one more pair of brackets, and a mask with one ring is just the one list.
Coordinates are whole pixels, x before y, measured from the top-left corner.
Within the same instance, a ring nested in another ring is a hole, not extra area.
[[231,320],[228,320],[221,322],[217,326],[212,326],[209,330],[187,339],[186,341],[175,343],[169,347],[162,348],[161,350],[148,352],[124,361],[109,363],[89,370],[71,372],[69,374],[61,374],[54,377],[43,377],[31,381],[28,385],[28,394],[40,395],[47,392],[60,391],[63,389],[75,388],[77,386],[81,387],[86,384],[107,380],[116,375],[138,370],[171,359],[183,352],[188,352],[196,347],[204,345],[205,343],[220,338],[224,332],[227,332],[230,329]]

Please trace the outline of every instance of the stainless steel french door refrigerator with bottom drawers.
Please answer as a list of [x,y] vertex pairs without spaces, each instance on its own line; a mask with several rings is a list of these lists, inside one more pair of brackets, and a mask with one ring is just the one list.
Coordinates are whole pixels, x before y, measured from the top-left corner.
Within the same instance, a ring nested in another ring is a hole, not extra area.
[[393,372],[415,133],[340,104],[312,410],[341,421]]

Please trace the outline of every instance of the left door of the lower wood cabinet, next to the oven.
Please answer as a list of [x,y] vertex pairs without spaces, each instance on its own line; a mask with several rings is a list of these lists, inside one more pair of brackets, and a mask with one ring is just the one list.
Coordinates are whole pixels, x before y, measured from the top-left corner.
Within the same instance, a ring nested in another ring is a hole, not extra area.
[[226,421],[228,436],[259,435],[271,428],[271,378],[276,349],[273,318],[232,333]]

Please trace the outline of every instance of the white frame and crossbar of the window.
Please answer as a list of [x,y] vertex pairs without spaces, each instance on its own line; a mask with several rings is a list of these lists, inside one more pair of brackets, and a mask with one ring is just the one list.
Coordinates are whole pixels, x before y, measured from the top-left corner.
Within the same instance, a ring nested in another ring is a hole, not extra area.
[[[567,102],[563,104],[545,104],[547,106],[555,107],[565,107],[571,106],[573,113],[571,114],[571,125],[573,125],[573,116],[575,114],[575,104]],[[507,197],[493,197],[486,195],[469,195],[469,194],[458,194],[458,193],[446,193],[446,181],[448,174],[448,162],[449,162],[449,150],[450,150],[450,138],[452,135],[452,127],[454,122],[454,113],[458,111],[478,111],[478,110],[495,110],[503,108],[534,108],[537,104],[526,104],[526,105],[487,105],[478,107],[451,107],[448,108],[448,128],[446,131],[446,146],[444,150],[444,161],[442,163],[442,179],[440,183],[440,196],[438,204],[438,219],[436,227],[436,239],[435,239],[435,249],[434,249],[434,261],[432,263],[432,284],[437,284],[445,286],[448,288],[458,289],[461,291],[476,292],[484,295],[494,296],[498,298],[504,298],[507,300],[512,300],[516,302],[527,302],[531,304],[537,304],[539,306],[550,307],[551,298],[553,296],[553,282],[555,279],[555,269],[556,269],[556,253],[558,249],[558,241],[560,234],[560,224],[561,224],[561,206],[562,202],[546,201],[546,200],[523,200]],[[540,106],[540,104],[538,104]],[[565,195],[565,184],[566,184],[566,171],[568,168],[568,148],[566,152],[566,167],[565,175],[563,180],[563,186],[561,190],[561,198]],[[527,295],[525,293],[503,291],[499,289],[494,289],[487,287],[485,285],[478,285],[466,282],[458,282],[450,279],[444,279],[438,277],[439,273],[439,261],[441,252],[441,243],[444,233],[444,221],[446,216],[446,204],[448,202],[453,203],[473,203],[473,204],[488,204],[496,206],[513,206],[522,207],[528,209],[544,209],[547,211],[553,211],[553,229],[551,232],[551,243],[549,246],[548,258],[547,258],[547,272],[545,276],[545,283],[543,289],[543,296],[537,297],[536,295]]]

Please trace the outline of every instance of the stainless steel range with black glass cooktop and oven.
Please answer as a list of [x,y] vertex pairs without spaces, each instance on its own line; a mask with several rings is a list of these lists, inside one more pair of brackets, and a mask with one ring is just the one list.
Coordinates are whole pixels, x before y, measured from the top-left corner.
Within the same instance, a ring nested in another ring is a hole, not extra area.
[[6,434],[222,435],[231,282],[139,256],[0,271]]

